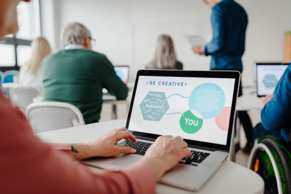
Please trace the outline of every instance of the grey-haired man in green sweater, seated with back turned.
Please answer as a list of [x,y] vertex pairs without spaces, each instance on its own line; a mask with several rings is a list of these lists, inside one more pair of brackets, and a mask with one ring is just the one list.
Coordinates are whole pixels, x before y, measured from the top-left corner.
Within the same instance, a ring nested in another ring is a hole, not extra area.
[[64,50],[42,62],[43,101],[77,106],[85,123],[100,119],[102,88],[117,99],[128,96],[128,88],[116,75],[104,54],[91,50],[91,33],[80,23],[69,23],[61,33]]

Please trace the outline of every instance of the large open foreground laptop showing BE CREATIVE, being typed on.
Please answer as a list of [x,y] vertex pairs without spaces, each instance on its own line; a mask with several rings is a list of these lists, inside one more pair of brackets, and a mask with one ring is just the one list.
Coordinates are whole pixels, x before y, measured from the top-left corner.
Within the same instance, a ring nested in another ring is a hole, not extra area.
[[125,126],[137,142],[118,142],[137,152],[82,162],[119,169],[141,159],[159,136],[181,136],[192,157],[180,160],[159,182],[198,191],[228,157],[240,76],[238,71],[138,71]]

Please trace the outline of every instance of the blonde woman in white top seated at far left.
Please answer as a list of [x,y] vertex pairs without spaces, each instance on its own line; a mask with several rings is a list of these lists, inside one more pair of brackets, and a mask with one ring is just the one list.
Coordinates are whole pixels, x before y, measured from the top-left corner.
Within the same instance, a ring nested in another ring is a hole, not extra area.
[[41,62],[51,53],[51,48],[44,37],[34,39],[31,47],[30,59],[20,68],[19,84],[42,88]]

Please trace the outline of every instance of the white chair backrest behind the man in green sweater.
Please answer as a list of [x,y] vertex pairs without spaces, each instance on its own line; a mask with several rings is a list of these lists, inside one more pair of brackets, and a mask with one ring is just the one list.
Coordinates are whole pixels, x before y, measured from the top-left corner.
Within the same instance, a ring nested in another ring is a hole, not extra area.
[[34,133],[84,125],[81,111],[74,105],[60,102],[32,103],[26,117]]

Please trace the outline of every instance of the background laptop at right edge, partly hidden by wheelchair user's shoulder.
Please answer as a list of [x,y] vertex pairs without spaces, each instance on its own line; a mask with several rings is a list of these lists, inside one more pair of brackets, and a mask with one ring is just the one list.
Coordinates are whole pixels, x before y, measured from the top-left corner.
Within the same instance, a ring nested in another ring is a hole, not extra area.
[[271,95],[290,63],[256,63],[258,97]]

